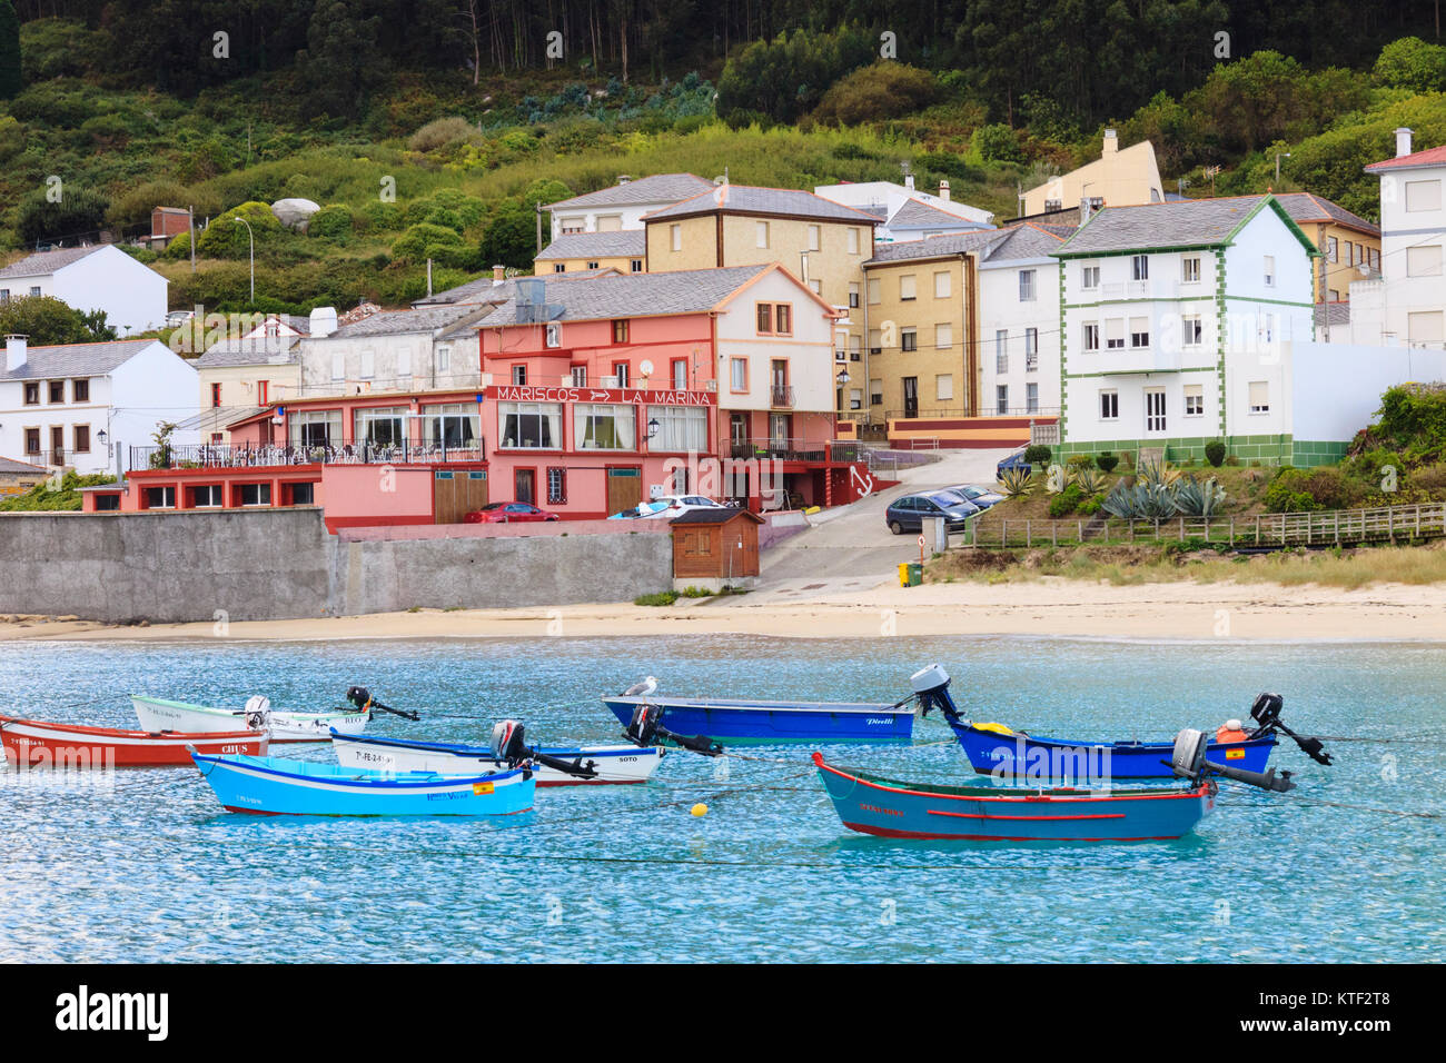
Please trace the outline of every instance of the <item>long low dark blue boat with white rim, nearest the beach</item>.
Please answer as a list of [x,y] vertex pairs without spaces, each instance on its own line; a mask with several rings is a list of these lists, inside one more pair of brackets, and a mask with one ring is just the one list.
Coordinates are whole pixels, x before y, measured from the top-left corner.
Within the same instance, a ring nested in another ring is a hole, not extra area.
[[915,709],[879,701],[774,701],[766,699],[656,697],[651,675],[626,693],[604,697],[607,710],[635,740],[639,714],[665,726],[664,740],[707,736],[724,745],[911,742]]

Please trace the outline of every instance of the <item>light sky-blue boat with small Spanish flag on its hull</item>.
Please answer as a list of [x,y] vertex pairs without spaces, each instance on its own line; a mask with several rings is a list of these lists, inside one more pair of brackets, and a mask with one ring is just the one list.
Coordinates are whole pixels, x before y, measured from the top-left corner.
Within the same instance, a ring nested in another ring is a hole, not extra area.
[[283,756],[205,756],[195,767],[227,811],[259,816],[510,816],[532,807],[534,772],[382,772]]

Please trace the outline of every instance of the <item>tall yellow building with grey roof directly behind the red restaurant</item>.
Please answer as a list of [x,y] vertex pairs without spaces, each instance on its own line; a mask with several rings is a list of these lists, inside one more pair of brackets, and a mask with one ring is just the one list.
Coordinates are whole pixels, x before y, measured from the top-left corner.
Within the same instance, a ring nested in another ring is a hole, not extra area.
[[643,217],[649,273],[778,263],[831,307],[837,402],[866,412],[863,263],[873,255],[872,214],[792,188],[719,185]]

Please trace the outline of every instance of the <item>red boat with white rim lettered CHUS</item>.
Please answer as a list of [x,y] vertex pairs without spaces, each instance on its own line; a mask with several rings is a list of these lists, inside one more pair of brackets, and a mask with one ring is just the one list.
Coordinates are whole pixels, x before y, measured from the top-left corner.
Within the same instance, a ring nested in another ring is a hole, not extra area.
[[194,764],[187,746],[210,756],[265,756],[269,745],[265,730],[189,735],[0,716],[6,759],[10,767],[23,768],[185,768]]

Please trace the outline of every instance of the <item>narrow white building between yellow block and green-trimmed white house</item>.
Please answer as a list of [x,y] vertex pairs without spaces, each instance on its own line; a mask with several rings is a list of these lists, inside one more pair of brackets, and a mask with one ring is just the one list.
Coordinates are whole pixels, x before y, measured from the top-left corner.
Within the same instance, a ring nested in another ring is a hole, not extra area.
[[1060,260],[1073,226],[1002,230],[979,253],[979,412],[1060,412]]

